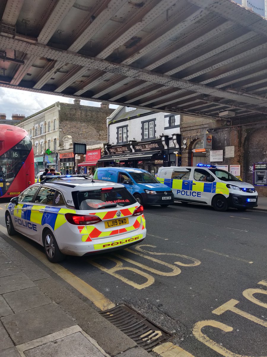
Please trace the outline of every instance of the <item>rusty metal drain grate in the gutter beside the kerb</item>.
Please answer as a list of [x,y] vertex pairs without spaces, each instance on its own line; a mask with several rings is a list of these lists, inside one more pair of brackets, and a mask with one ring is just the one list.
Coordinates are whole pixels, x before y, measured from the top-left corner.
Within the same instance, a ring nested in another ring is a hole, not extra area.
[[148,352],[172,337],[171,333],[157,326],[127,304],[101,311],[100,314]]

